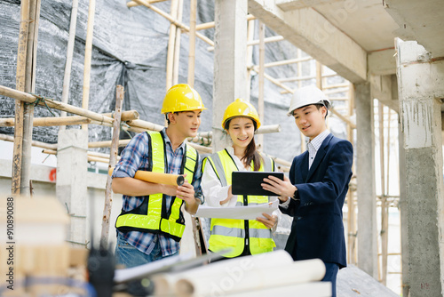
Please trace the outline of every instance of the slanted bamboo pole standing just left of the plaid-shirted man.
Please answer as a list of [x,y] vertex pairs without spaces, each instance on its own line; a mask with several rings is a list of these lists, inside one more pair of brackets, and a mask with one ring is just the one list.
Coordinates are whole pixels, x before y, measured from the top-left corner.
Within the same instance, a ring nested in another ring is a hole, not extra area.
[[[111,143],[111,151],[109,157],[108,171],[111,168],[115,167],[115,163],[117,162],[117,151],[119,148],[119,133],[120,133],[120,120],[122,115],[122,106],[123,106],[123,86],[117,85],[115,90],[115,120],[113,124],[113,137]],[[111,189],[111,176],[107,174],[107,187],[105,189],[105,205],[103,207],[103,215],[102,215],[102,232],[100,236],[100,246],[103,249],[107,249],[108,245],[108,236],[109,236],[109,218],[111,216],[111,207],[113,205],[113,191]]]

